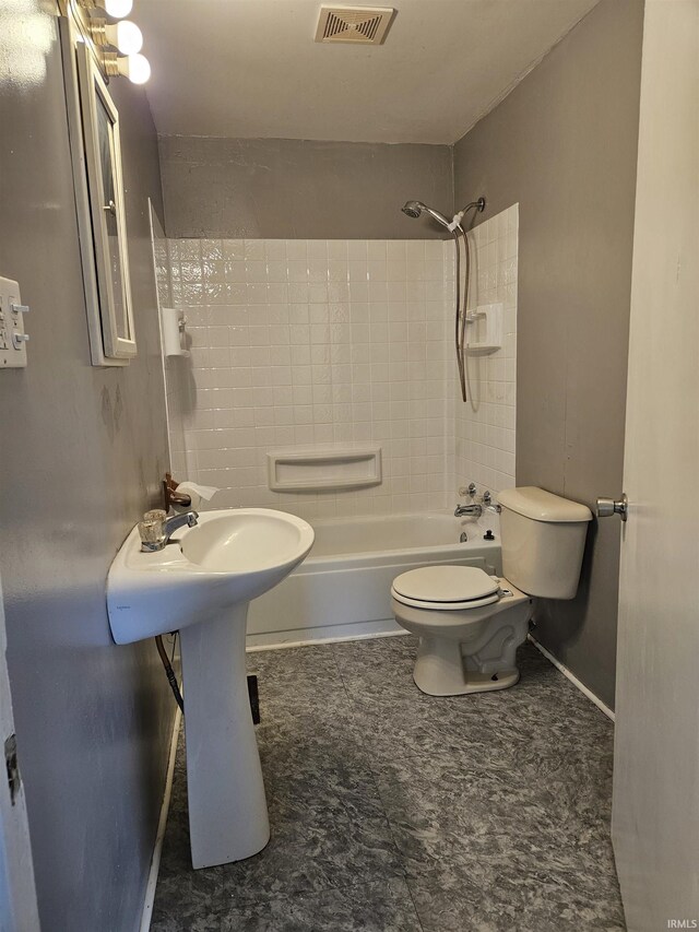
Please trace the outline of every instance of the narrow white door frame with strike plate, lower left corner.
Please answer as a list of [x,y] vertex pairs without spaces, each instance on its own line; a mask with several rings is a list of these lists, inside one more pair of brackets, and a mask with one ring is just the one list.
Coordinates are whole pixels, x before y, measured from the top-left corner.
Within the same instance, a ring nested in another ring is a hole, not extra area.
[[[7,645],[0,580],[0,748],[3,757],[4,741],[14,734]],[[11,800],[4,763],[0,768],[0,930],[39,932],[24,786],[20,782]]]

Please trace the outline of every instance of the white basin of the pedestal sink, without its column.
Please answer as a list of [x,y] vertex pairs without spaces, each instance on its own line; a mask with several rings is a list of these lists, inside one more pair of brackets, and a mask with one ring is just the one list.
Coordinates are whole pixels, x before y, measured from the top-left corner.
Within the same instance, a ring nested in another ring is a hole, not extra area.
[[134,528],[107,581],[117,644],[181,630],[281,582],[308,554],[313,529],[269,508],[204,511],[156,553],[141,553]]

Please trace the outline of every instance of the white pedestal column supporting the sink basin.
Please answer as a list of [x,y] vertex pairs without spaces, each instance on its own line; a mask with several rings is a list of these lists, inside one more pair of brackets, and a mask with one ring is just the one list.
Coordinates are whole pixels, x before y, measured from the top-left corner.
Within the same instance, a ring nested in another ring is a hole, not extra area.
[[270,839],[248,697],[247,614],[245,602],[180,632],[194,868],[249,858]]

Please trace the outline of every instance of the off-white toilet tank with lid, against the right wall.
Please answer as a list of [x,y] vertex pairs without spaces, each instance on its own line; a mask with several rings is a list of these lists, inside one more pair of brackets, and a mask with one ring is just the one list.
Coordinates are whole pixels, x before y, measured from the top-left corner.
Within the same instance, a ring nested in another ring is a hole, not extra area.
[[502,574],[528,595],[573,599],[590,509],[536,486],[503,489],[498,500]]

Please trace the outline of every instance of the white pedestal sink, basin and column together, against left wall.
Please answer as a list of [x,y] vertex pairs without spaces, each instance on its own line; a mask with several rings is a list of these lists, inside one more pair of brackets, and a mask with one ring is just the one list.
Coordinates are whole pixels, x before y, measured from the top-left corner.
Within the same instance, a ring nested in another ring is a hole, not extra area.
[[310,524],[283,511],[205,511],[156,553],[141,552],[134,528],[109,570],[117,644],[180,632],[194,868],[249,858],[269,840],[245,664],[248,602],[281,582],[312,543]]

